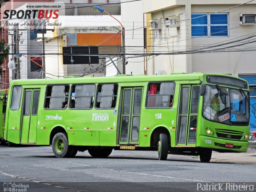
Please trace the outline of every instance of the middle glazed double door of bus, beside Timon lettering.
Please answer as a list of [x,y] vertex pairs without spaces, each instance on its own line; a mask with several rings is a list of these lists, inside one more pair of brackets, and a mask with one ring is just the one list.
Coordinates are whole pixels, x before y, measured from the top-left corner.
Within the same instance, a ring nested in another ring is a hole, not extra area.
[[134,145],[139,142],[141,99],[142,87],[123,89],[119,144]]

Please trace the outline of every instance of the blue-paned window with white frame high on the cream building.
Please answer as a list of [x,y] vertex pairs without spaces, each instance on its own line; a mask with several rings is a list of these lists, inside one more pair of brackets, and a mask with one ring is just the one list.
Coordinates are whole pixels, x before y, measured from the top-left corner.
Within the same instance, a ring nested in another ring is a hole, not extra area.
[[193,13],[191,14],[191,36],[220,37],[228,36],[227,13]]

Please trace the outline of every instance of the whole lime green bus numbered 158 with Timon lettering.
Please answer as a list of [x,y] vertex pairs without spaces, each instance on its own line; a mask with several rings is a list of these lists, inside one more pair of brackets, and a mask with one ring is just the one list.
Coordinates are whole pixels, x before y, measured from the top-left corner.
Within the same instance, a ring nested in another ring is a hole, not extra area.
[[88,150],[156,150],[199,155],[246,152],[249,88],[223,74],[66,77],[13,80],[4,138],[14,144],[52,145],[58,158]]

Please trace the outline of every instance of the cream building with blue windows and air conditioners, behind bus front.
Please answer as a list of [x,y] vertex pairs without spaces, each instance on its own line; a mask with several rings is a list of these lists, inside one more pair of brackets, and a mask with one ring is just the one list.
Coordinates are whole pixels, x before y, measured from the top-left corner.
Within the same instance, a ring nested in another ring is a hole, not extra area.
[[143,11],[152,16],[151,53],[160,53],[150,60],[148,74],[240,76],[250,84],[251,128],[256,128],[256,2],[143,0]]

